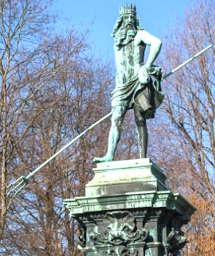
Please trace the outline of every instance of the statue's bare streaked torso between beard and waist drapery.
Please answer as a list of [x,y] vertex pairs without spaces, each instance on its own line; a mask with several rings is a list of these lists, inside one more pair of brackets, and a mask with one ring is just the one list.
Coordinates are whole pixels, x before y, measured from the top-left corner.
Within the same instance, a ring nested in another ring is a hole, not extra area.
[[144,44],[135,46],[134,40],[122,48],[114,45],[117,67],[116,86],[122,86],[138,75],[138,70],[143,65],[145,48]]

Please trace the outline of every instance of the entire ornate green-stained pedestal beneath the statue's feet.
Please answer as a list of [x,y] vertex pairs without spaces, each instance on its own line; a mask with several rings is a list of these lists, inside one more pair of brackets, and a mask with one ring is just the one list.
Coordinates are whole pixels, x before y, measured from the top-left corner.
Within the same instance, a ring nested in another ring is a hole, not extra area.
[[165,186],[148,158],[103,162],[85,197],[64,200],[79,222],[83,255],[177,256],[187,243],[181,226],[195,208]]

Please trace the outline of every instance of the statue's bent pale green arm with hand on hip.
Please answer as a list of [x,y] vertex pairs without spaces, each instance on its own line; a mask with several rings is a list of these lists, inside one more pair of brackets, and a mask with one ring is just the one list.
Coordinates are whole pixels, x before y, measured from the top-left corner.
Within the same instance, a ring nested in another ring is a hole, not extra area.
[[134,43],[136,46],[139,45],[141,42],[144,42],[144,44],[150,46],[149,56],[145,64],[146,69],[150,70],[152,69],[152,64],[160,53],[162,42],[160,41],[160,39],[152,36],[152,34],[149,34],[149,32],[145,30],[138,31],[134,39]]

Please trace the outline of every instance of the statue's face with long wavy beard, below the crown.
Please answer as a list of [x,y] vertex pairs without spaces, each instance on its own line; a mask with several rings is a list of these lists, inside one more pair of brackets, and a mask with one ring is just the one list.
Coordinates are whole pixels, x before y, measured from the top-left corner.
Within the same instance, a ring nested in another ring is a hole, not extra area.
[[136,16],[128,13],[122,16],[122,23],[117,33],[114,35],[115,45],[127,45],[136,36]]

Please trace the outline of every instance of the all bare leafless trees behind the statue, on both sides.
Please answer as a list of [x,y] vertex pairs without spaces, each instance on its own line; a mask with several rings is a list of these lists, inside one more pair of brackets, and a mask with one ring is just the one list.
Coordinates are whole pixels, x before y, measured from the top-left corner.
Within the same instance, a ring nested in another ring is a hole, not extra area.
[[[109,121],[63,151],[17,197],[7,187],[26,176],[109,112],[110,65],[90,54],[87,31],[55,33],[48,0],[0,1],[0,253],[72,255],[77,223],[63,199],[85,194],[92,159],[103,155]],[[213,44],[214,0],[192,1],[163,36],[160,66],[170,71]],[[171,32],[172,31],[172,32]],[[165,102],[149,122],[149,157],[168,185],[198,211],[184,255],[214,255],[215,50],[163,82]],[[138,157],[133,113],[125,118],[116,159]]]

